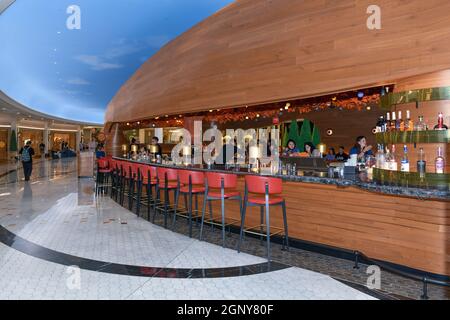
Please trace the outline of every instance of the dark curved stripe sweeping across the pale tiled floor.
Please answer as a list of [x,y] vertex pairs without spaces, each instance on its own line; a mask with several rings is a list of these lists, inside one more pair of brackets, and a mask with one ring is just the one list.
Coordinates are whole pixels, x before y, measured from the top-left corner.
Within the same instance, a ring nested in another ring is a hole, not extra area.
[[138,277],[180,279],[231,278],[291,268],[291,266],[274,261],[246,266],[208,269],[161,268],[110,263],[81,258],[42,247],[15,235],[1,225],[0,242],[27,255],[60,265],[78,266],[83,270]]

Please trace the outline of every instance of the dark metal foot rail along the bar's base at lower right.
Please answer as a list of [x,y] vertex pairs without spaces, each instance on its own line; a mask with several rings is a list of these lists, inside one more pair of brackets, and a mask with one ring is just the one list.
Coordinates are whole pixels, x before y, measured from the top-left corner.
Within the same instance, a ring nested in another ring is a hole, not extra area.
[[427,276],[427,275],[419,276],[412,272],[400,270],[400,269],[393,267],[391,265],[388,265],[387,263],[384,263],[382,261],[373,260],[359,251],[355,251],[355,266],[353,267],[354,269],[359,269],[360,258],[362,258],[364,261],[366,261],[372,265],[376,265],[376,266],[380,267],[381,269],[387,270],[391,273],[394,273],[394,274],[397,274],[397,275],[400,275],[402,277],[409,278],[412,280],[421,281],[423,283],[422,295],[420,296],[420,298],[422,300],[429,299],[429,296],[428,296],[428,284],[429,283],[438,285],[438,286],[450,287],[450,282],[448,282],[448,281],[433,279],[432,277]]

